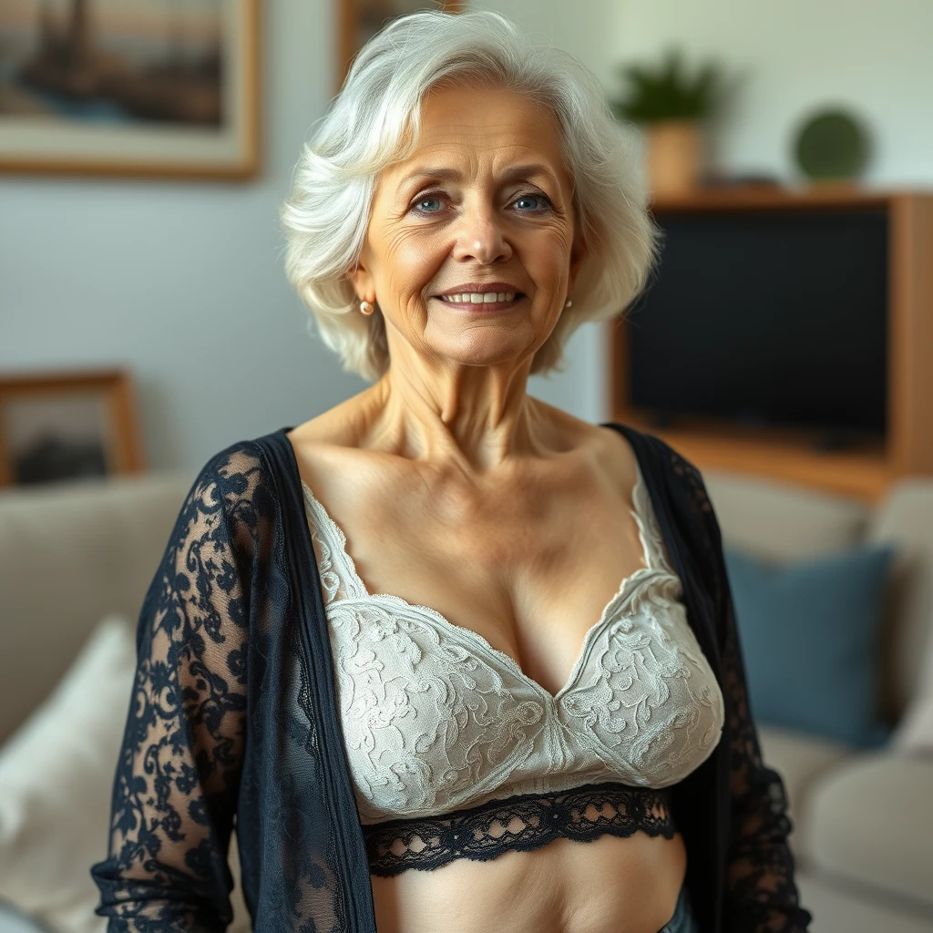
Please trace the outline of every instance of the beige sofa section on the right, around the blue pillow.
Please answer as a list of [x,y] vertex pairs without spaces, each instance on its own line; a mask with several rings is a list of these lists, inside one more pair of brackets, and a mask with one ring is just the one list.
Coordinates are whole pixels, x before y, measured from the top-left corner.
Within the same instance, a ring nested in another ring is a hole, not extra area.
[[930,933],[933,741],[925,756],[899,746],[905,713],[915,716],[933,671],[933,479],[901,480],[870,509],[785,483],[704,475],[723,537],[736,548],[779,562],[862,541],[898,550],[879,659],[884,717],[900,727],[891,742],[858,752],[763,724],[759,735],[787,787],[790,845],[815,933]]

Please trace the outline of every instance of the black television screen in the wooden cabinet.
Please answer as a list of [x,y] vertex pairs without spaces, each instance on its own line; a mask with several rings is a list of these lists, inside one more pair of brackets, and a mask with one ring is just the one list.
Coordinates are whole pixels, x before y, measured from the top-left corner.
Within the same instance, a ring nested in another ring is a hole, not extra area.
[[634,409],[884,433],[887,213],[664,212],[628,315]]

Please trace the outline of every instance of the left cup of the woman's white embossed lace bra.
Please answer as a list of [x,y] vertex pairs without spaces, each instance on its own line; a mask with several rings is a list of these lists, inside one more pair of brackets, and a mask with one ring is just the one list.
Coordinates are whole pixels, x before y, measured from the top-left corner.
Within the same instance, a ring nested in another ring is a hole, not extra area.
[[541,753],[547,725],[546,699],[528,682],[394,604],[369,597],[327,609],[344,745],[369,820],[492,793]]

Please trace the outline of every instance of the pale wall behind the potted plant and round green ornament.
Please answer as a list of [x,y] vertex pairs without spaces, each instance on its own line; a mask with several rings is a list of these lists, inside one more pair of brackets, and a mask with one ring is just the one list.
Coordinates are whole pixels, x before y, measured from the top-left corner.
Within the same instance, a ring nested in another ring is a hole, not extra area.
[[[792,140],[815,107],[843,104],[868,125],[864,181],[933,186],[933,3],[930,0],[620,0],[618,60],[677,44],[747,80],[717,128],[717,163],[799,180]],[[615,87],[615,85],[614,85]]]

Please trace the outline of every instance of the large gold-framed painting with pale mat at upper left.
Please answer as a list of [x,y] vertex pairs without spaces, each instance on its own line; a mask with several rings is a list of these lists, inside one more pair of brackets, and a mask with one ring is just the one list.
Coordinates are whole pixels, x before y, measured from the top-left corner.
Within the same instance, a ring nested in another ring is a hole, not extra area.
[[260,0],[3,0],[0,171],[258,171]]

